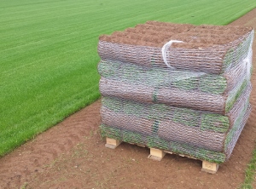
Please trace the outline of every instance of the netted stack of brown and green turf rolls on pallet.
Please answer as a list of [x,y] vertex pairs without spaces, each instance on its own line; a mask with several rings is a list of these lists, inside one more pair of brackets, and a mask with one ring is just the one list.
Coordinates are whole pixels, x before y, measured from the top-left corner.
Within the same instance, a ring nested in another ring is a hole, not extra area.
[[148,21],[101,36],[102,136],[224,163],[251,111],[253,35]]

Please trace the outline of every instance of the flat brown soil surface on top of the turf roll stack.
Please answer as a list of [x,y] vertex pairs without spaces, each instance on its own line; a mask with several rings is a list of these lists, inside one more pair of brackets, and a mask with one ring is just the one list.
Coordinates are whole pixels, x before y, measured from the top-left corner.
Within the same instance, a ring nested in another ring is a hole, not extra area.
[[101,41],[131,45],[162,47],[175,39],[185,43],[174,43],[174,48],[197,49],[231,43],[252,31],[252,27],[241,26],[193,26],[148,21],[146,24],[114,31],[111,35],[102,35]]

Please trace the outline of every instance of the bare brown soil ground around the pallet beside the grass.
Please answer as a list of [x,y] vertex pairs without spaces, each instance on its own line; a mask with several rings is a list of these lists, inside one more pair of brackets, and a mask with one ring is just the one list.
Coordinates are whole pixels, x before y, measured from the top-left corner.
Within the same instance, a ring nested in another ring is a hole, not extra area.
[[[231,25],[256,28],[255,14],[253,9]],[[253,112],[230,160],[216,175],[201,172],[201,161],[189,158],[168,154],[154,162],[147,158],[148,148],[106,148],[98,130],[98,100],[1,158],[0,188],[236,188],[255,147],[256,69],[252,83]]]

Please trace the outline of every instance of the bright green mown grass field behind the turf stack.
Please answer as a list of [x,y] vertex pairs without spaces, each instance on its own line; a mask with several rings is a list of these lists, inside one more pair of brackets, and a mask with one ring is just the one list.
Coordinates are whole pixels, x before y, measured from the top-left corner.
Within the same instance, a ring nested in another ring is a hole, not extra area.
[[255,0],[2,0],[0,157],[100,97],[99,35],[147,20],[226,25]]

